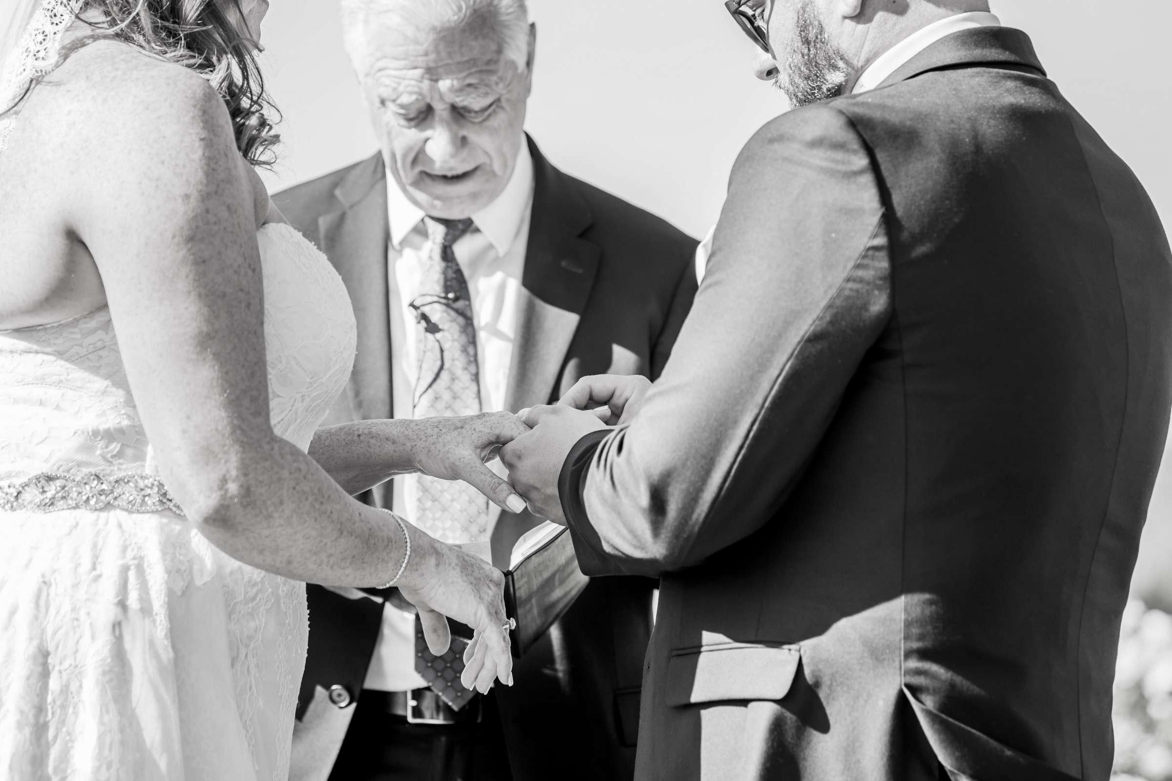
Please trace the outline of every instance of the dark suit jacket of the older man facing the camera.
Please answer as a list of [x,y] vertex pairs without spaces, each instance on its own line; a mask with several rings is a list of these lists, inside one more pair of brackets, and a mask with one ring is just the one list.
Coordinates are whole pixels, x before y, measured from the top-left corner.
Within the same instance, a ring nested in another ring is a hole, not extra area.
[[[696,242],[663,220],[566,176],[529,142],[534,193],[506,407],[556,402],[580,377],[656,377],[696,289]],[[327,424],[391,417],[387,179],[381,155],[277,197],[285,217],[341,274],[359,345]],[[390,484],[368,499],[391,506]],[[509,561],[538,519],[503,513],[493,559]],[[497,686],[517,781],[629,779],[654,581],[592,582]],[[309,587],[309,657],[299,701],[298,765],[323,777],[338,754],[379,637],[382,605]],[[329,703],[338,694],[345,707]],[[336,691],[336,690],[335,690]],[[308,762],[308,763],[307,763]],[[297,769],[297,768],[295,768]]]

